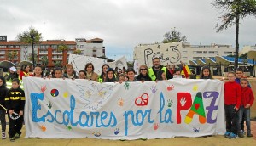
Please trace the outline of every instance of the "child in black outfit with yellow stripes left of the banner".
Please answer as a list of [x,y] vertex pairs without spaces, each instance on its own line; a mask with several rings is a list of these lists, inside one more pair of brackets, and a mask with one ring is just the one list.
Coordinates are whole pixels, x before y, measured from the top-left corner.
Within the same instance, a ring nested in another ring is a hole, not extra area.
[[[25,106],[25,93],[20,88],[20,80],[15,78],[12,81],[12,88],[9,89],[6,97],[5,104],[9,117],[9,139],[15,142],[15,139],[20,138],[20,130],[23,125],[23,111]],[[20,117],[17,119],[11,118],[15,113]]]

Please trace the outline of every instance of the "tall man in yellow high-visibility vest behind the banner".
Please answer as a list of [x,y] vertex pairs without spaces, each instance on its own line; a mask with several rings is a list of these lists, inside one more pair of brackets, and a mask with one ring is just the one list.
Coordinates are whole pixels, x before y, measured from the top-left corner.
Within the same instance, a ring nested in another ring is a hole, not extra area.
[[152,81],[156,80],[156,75],[157,75],[159,70],[164,70],[165,71],[167,80],[173,78],[170,71],[168,71],[168,69],[166,69],[166,67],[161,65],[160,58],[154,58],[153,59],[153,66],[148,69],[148,75],[152,79]]

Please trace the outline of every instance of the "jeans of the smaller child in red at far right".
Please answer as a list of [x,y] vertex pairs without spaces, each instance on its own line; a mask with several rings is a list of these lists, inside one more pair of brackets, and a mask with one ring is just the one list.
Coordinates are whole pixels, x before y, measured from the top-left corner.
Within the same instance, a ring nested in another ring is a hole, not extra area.
[[247,132],[251,132],[251,121],[250,121],[250,108],[244,108],[243,106],[240,107],[238,111],[238,128],[241,130],[241,121],[242,118],[245,118],[246,125],[247,125]]

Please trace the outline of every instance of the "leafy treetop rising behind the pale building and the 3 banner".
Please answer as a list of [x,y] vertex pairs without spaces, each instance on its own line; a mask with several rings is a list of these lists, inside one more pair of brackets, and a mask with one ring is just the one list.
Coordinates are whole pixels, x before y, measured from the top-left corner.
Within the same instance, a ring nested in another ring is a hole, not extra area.
[[187,41],[187,36],[182,36],[179,31],[176,31],[175,27],[170,32],[166,32],[164,37],[163,43]]

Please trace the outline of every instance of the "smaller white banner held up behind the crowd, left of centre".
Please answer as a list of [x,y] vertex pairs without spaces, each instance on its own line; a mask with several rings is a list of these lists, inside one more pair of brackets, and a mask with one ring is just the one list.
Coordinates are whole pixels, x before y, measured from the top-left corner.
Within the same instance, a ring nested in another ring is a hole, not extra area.
[[106,64],[107,60],[84,55],[69,54],[68,64],[73,65],[73,68],[77,74],[79,73],[79,70],[84,70],[87,63],[92,63],[94,66],[94,72],[101,75],[102,65]]

